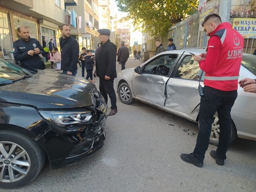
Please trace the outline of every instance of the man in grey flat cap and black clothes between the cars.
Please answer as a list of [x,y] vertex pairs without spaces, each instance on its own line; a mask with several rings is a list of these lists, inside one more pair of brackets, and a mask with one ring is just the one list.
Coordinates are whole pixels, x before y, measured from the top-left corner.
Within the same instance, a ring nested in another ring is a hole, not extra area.
[[99,77],[99,91],[108,104],[108,95],[111,101],[109,116],[117,113],[116,93],[114,90],[114,79],[116,74],[116,45],[109,40],[110,30],[99,29],[100,49],[96,58],[96,70]]

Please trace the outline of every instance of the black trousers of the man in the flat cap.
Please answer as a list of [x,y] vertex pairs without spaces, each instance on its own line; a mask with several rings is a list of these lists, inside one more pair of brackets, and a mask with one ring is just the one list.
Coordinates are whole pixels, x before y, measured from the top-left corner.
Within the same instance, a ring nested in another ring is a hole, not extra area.
[[103,78],[99,78],[99,91],[102,94],[103,98],[108,104],[108,95],[111,101],[111,109],[117,109],[116,106],[116,93],[114,90],[114,79],[105,80]]

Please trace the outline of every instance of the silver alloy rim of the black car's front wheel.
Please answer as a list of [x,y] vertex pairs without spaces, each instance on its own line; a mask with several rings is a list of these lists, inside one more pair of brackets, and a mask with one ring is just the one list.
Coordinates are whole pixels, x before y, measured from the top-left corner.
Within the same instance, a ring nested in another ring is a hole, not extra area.
[[31,161],[27,152],[13,142],[0,142],[0,182],[11,183],[27,175]]

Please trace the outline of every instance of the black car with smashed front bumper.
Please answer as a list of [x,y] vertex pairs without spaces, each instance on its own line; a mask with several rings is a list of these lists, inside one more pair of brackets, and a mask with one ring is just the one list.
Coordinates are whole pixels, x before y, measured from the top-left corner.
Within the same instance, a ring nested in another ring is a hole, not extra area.
[[105,124],[106,104],[93,83],[0,59],[0,188],[33,181],[45,159],[55,169],[96,152]]

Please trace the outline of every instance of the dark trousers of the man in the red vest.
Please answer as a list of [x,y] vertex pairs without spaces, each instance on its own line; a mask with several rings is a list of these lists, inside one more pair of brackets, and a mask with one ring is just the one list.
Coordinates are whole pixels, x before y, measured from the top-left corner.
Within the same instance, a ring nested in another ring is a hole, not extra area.
[[204,86],[204,96],[201,97],[199,111],[199,133],[197,144],[194,149],[194,157],[198,161],[203,161],[205,152],[209,146],[210,134],[212,130],[213,116],[216,111],[219,118],[219,144],[217,157],[226,159],[226,152],[230,140],[231,116],[230,111],[235,103],[237,91],[221,91],[212,87]]

